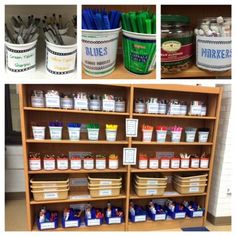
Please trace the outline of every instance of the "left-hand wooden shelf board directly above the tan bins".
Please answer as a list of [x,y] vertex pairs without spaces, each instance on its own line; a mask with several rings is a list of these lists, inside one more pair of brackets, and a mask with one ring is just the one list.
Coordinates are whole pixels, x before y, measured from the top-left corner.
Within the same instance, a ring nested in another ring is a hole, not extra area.
[[127,168],[122,167],[119,169],[104,169],[104,170],[53,170],[53,171],[47,171],[47,170],[40,170],[40,171],[28,171],[28,174],[86,174],[86,173],[125,173],[127,172]]

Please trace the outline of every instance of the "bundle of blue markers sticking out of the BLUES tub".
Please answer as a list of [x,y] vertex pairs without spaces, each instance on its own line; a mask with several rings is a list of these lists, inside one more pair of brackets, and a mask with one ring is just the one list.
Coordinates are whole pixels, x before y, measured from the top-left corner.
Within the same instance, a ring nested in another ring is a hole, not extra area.
[[82,11],[82,29],[110,30],[120,27],[121,13],[119,11],[107,12],[105,9],[84,9]]

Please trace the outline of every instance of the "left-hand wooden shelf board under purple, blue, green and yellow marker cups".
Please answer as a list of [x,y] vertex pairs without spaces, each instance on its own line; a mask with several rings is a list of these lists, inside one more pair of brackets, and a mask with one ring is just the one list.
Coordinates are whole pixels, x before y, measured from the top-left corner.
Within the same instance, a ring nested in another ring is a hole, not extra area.
[[51,140],[51,139],[44,139],[44,140],[34,140],[34,139],[27,139],[26,143],[58,143],[58,144],[128,144],[128,141],[115,141],[109,142],[106,140],[98,140],[98,141],[90,141],[90,140]]

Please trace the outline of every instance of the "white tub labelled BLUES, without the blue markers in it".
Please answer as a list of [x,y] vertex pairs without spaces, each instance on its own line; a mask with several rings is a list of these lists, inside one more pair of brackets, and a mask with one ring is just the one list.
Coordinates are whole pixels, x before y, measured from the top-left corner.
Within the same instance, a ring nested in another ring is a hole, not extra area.
[[82,62],[86,74],[100,77],[114,71],[120,30],[82,30]]

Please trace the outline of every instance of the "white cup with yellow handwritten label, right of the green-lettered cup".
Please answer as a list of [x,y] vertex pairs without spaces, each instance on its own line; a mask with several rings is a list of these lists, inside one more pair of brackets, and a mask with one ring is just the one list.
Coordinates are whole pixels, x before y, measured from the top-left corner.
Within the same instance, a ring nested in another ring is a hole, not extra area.
[[61,37],[64,45],[46,40],[46,70],[49,74],[63,76],[75,72],[77,44],[73,37]]

